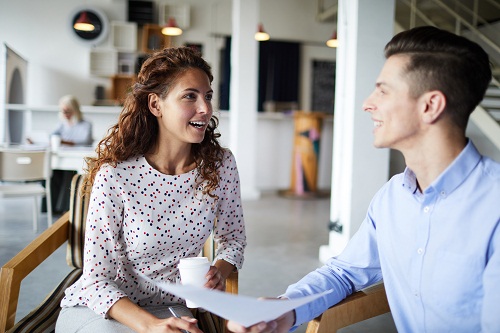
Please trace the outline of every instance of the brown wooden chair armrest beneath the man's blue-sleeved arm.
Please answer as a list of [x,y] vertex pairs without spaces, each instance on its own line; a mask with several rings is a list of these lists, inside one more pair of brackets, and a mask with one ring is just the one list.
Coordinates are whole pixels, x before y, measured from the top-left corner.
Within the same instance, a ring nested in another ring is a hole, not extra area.
[[391,311],[383,283],[358,291],[311,320],[306,333],[331,333]]

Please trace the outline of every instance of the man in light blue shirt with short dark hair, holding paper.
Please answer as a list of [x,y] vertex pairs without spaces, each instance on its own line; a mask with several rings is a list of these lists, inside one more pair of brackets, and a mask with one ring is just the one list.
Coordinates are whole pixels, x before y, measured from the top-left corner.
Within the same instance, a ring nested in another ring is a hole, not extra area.
[[288,287],[327,296],[234,332],[287,332],[346,296],[384,280],[400,332],[500,332],[500,164],[465,136],[491,80],[488,55],[434,27],[394,36],[363,109],[374,145],[399,150],[407,168],[374,196],[337,257]]

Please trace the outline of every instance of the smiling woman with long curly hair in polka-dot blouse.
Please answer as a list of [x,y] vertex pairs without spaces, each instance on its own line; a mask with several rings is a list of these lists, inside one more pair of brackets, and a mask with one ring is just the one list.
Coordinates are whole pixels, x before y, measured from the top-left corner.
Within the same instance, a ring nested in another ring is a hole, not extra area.
[[[118,122],[87,159],[83,275],[66,290],[57,332],[200,333],[185,301],[154,282],[179,283],[179,260],[197,256],[212,231],[218,248],[205,287],[224,290],[241,268],[239,176],[217,141],[212,79],[187,47],[142,65]],[[171,305],[187,317],[169,317]]]

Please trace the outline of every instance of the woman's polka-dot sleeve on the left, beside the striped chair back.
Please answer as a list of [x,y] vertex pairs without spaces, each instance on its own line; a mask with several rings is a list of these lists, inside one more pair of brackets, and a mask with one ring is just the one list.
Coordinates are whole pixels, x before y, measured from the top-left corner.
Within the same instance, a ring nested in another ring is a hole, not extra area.
[[120,242],[123,204],[113,168],[97,173],[92,187],[85,229],[81,297],[105,317],[111,306],[127,295],[116,285],[117,259],[125,256]]

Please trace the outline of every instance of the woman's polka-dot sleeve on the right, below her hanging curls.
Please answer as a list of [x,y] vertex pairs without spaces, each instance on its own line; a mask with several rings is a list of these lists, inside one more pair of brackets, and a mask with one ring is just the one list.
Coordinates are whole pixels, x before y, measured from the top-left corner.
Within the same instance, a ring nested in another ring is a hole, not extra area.
[[227,151],[219,169],[218,214],[214,239],[215,261],[223,259],[241,269],[246,246],[245,221],[240,195],[240,179],[234,155]]

